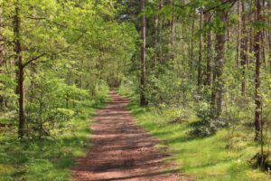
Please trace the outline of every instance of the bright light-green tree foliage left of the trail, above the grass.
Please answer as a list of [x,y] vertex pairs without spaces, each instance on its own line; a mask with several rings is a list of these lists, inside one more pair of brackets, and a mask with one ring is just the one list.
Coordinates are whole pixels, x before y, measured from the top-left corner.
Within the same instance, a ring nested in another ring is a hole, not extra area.
[[[1,109],[15,112],[18,98],[25,97],[29,137],[50,136],[82,114],[79,108],[100,89],[118,86],[135,51],[134,25],[118,23],[117,11],[108,2],[1,1],[0,13]],[[21,70],[14,51],[18,42]],[[19,71],[24,72],[23,94],[18,94]]]

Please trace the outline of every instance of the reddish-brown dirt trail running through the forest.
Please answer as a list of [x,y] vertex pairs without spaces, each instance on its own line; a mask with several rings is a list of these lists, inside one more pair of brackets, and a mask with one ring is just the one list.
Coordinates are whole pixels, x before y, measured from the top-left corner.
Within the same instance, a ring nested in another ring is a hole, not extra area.
[[173,165],[164,163],[169,155],[154,148],[158,140],[135,125],[126,110],[129,100],[120,98],[115,91],[110,94],[114,100],[98,110],[93,119],[92,145],[87,157],[77,160],[72,170],[74,180],[193,180],[178,174]]

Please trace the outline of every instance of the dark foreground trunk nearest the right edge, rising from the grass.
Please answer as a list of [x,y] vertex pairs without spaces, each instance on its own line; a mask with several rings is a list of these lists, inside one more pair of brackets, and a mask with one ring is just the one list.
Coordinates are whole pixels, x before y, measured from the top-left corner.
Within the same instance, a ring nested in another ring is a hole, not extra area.
[[[260,0],[255,0],[256,4],[256,14],[255,14],[255,20],[257,22],[262,20],[262,14],[261,14],[261,3]],[[260,87],[261,87],[261,81],[260,81],[260,69],[261,69],[261,31],[255,30],[255,44],[254,44],[254,52],[255,52],[255,58],[256,58],[256,71],[255,71],[255,139],[260,139],[260,119],[261,119],[261,96],[260,96]]]

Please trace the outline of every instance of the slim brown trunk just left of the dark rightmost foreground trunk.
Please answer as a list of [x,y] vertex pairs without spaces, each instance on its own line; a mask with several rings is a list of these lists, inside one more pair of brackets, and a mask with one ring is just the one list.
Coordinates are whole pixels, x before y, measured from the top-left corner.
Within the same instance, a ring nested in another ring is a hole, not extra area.
[[246,93],[246,66],[248,62],[248,33],[246,29],[246,14],[245,14],[245,2],[240,0],[241,6],[241,44],[240,44],[240,62],[242,66],[242,79],[241,79],[241,92],[244,95]]

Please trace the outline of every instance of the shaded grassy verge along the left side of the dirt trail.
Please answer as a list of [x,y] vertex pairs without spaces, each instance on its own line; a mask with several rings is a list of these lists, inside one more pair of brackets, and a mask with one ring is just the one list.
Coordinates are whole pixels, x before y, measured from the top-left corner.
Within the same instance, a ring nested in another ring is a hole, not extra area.
[[90,141],[89,118],[108,100],[99,95],[48,138],[18,140],[14,128],[0,130],[0,180],[61,181],[70,179],[74,158],[87,153]]

